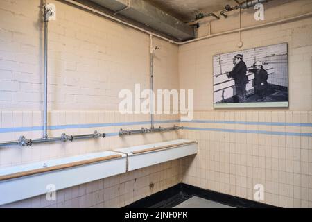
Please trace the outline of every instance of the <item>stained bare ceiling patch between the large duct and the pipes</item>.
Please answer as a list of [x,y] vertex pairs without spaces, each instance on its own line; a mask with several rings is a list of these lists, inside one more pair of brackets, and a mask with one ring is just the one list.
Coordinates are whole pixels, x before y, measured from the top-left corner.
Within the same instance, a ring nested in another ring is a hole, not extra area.
[[235,6],[234,0],[144,0],[157,8],[164,10],[177,19],[187,22],[202,13],[217,12],[225,8],[227,4]]

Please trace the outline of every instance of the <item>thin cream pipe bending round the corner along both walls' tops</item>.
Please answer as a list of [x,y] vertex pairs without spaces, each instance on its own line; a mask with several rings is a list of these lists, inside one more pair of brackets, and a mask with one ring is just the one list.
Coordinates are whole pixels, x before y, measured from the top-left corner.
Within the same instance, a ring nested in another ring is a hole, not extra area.
[[132,28],[135,28],[135,29],[137,29],[139,31],[147,33],[148,35],[153,35],[155,37],[158,37],[159,39],[165,40],[165,41],[173,43],[173,44],[178,44],[178,45],[188,44],[188,43],[191,43],[191,42],[197,42],[197,41],[200,41],[200,40],[205,40],[205,39],[209,39],[211,37],[217,37],[217,36],[220,36],[220,35],[227,35],[227,34],[231,34],[231,33],[237,33],[237,32],[240,32],[240,31],[248,31],[248,30],[252,30],[254,28],[261,28],[261,27],[265,27],[265,26],[272,26],[272,25],[281,24],[281,23],[284,23],[284,22],[290,22],[290,21],[297,20],[297,19],[304,19],[306,17],[311,17],[312,16],[312,12],[308,12],[308,13],[305,13],[305,14],[302,14],[302,15],[296,15],[296,16],[293,16],[293,17],[279,19],[279,20],[273,21],[273,22],[267,22],[267,23],[259,24],[259,25],[255,25],[255,26],[248,26],[248,27],[245,27],[245,28],[236,28],[236,29],[233,29],[233,30],[230,30],[230,31],[224,31],[224,32],[221,32],[221,33],[205,35],[203,37],[198,37],[198,38],[193,39],[193,40],[187,40],[187,41],[184,41],[184,42],[177,42],[177,41],[168,39],[166,37],[163,37],[162,35],[158,35],[158,34],[150,32],[150,31],[147,31],[146,29],[140,28],[139,26],[135,26],[133,24],[125,22],[125,21],[123,21],[121,19],[118,19],[116,17],[108,15],[108,14],[106,14],[104,12],[101,12],[101,11],[96,10],[94,8],[91,8],[89,6],[85,6],[82,3],[78,3],[77,1],[73,1],[73,0],[58,0],[58,1],[65,1],[67,3],[71,3],[72,5],[78,6],[79,8],[83,8],[83,9],[88,10],[90,12],[94,12],[95,14],[102,15],[102,16],[107,17],[109,19],[112,19],[112,20],[114,20],[116,22],[119,22],[121,24],[125,24],[125,25],[130,26]]

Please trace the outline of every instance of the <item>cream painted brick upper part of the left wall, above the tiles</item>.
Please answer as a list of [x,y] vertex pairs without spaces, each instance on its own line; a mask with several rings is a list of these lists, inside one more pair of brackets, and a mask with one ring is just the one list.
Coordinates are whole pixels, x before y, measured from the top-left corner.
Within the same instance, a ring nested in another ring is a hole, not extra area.
[[[0,2],[0,109],[41,109],[40,2]],[[149,87],[148,35],[60,1],[51,3],[58,14],[49,22],[49,109],[117,110],[121,89],[135,83]],[[163,86],[164,76],[164,87],[177,88],[178,48],[157,44],[162,49],[155,61],[155,88]]]

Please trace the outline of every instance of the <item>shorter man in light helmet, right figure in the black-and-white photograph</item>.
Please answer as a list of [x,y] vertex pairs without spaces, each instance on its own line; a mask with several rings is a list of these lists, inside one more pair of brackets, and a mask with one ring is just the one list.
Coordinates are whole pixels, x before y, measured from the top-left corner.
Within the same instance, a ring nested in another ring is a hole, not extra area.
[[258,95],[258,102],[266,100],[266,89],[268,88],[268,72],[263,69],[262,62],[254,62],[254,69],[249,69],[249,72],[254,73],[254,94]]

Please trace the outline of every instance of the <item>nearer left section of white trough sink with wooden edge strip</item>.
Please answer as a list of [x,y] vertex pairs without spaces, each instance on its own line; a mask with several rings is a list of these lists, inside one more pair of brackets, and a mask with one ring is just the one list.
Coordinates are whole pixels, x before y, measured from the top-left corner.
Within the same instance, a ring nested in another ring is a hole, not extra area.
[[125,173],[126,155],[105,151],[0,169],[0,205]]

